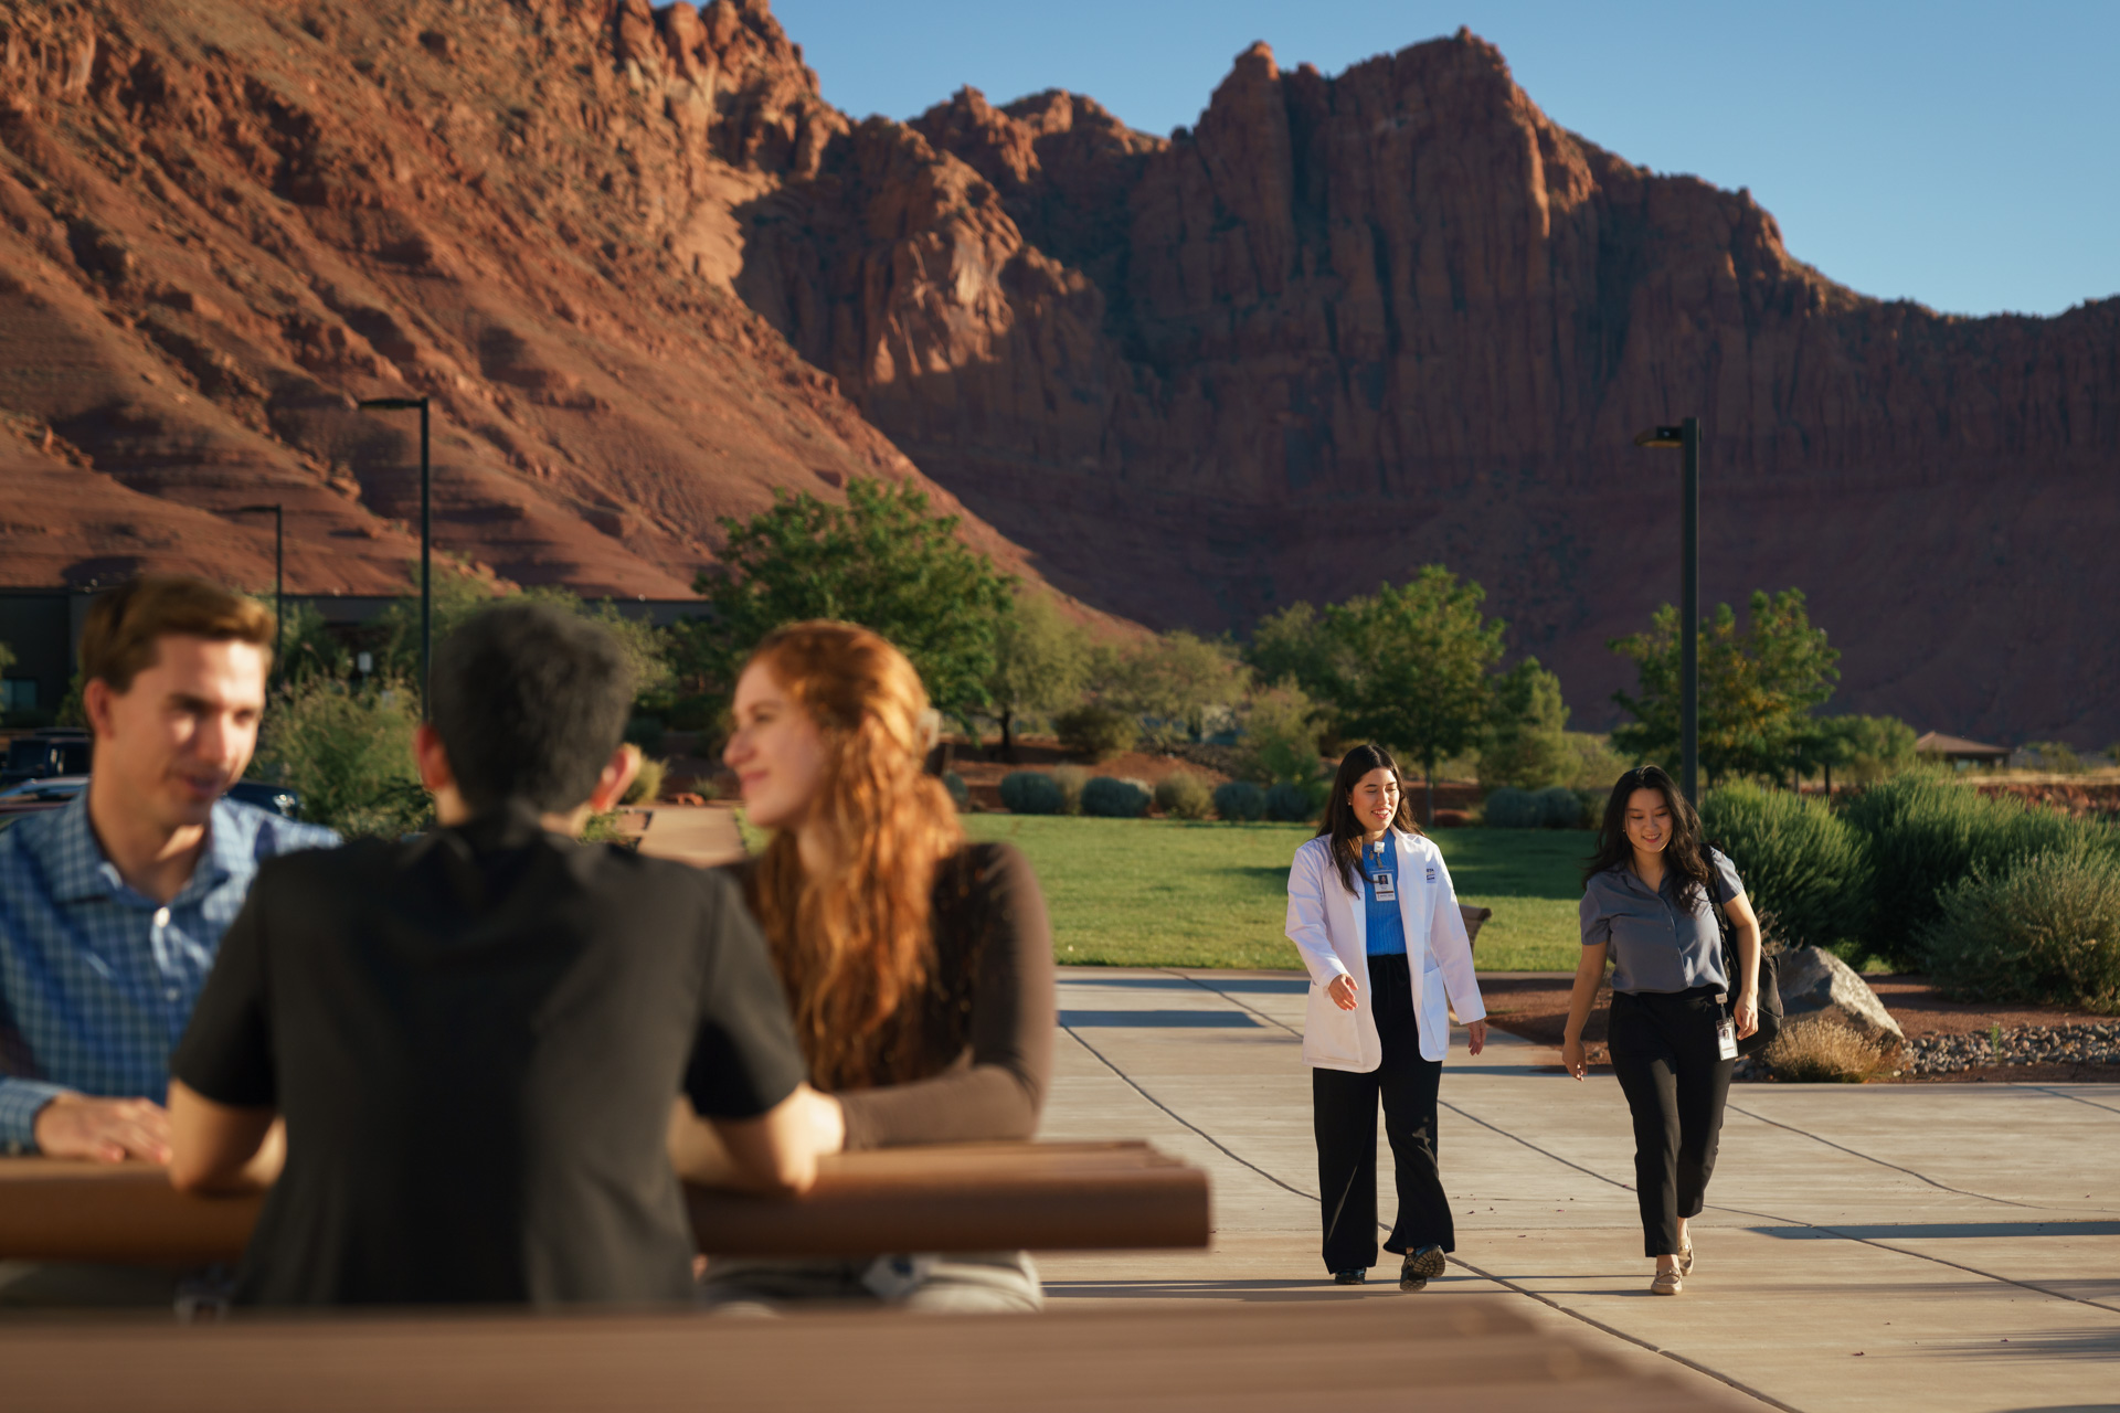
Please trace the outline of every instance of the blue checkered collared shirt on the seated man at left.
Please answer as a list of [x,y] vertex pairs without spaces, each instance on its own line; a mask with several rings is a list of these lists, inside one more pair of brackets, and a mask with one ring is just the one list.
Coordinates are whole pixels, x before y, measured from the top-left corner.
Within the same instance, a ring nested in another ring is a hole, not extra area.
[[337,841],[225,799],[163,907],[104,858],[87,790],[0,830],[0,1152],[34,1152],[36,1112],[68,1089],[159,1104],[259,860]]

